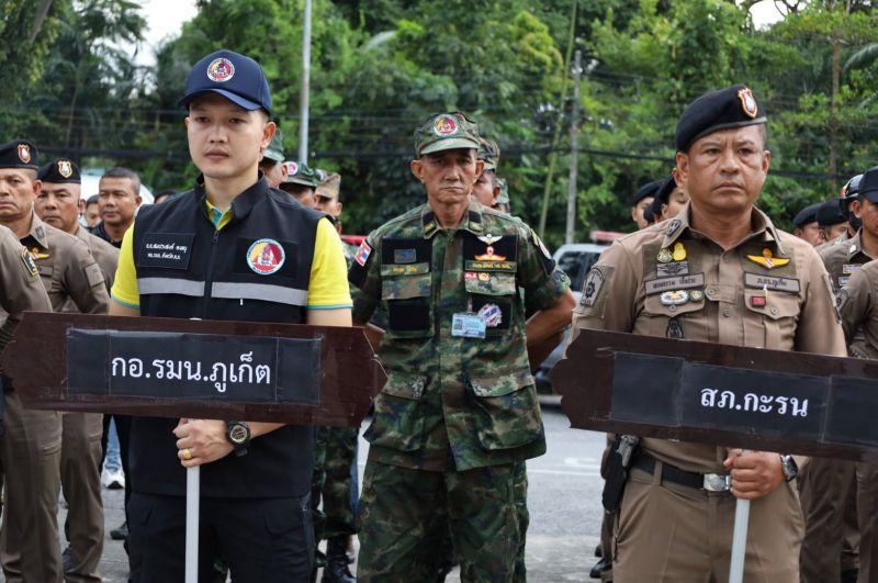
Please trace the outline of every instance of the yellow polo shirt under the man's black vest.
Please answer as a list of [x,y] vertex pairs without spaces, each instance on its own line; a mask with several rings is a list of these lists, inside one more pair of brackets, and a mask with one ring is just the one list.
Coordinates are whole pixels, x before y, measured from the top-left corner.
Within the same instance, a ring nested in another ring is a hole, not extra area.
[[[207,214],[222,231],[232,221],[232,209],[221,212],[207,202]],[[140,307],[140,294],[137,290],[137,271],[134,267],[134,249],[132,239],[134,225],[125,232],[122,238],[122,253],[119,256],[116,279],[113,282],[111,296],[116,303],[127,307]],[[344,285],[339,285],[344,281]],[[329,221],[320,220],[317,223],[317,236],[314,242],[314,260],[311,264],[311,278],[308,279],[308,310],[335,310],[351,307],[350,290],[347,284],[348,268],[345,262],[345,251],[341,239]]]

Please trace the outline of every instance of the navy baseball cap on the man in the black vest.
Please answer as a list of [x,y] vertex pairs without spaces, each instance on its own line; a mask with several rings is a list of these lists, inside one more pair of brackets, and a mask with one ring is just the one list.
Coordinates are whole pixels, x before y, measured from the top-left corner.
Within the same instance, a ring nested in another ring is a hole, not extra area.
[[195,63],[185,83],[185,96],[178,103],[185,108],[209,92],[219,93],[247,111],[263,109],[271,115],[271,91],[262,67],[233,51],[224,48]]

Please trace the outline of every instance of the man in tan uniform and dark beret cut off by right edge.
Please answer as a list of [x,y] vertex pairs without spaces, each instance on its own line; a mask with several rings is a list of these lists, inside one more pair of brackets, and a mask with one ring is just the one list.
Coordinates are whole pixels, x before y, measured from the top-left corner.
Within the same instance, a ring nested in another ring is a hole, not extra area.
[[[859,195],[878,200],[878,167],[863,175]],[[876,209],[871,209],[875,211]],[[863,228],[875,217],[864,215]],[[838,292],[838,307],[845,339],[853,343],[862,336],[858,355],[878,360],[878,261],[869,261],[854,270],[847,285]],[[878,466],[856,464],[856,506],[859,527],[859,575],[857,581],[868,583],[878,574]]]

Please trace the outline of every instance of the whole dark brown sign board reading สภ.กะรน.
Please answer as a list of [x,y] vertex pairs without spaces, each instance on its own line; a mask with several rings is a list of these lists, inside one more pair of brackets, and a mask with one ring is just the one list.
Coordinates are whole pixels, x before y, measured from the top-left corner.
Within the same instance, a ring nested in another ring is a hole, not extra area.
[[878,461],[874,362],[583,330],[551,379],[574,427]]

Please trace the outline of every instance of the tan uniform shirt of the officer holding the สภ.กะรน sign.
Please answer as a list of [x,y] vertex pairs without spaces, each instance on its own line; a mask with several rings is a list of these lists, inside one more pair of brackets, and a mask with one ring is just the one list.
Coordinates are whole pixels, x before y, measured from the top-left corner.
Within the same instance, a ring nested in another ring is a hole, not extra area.
[[[573,338],[588,328],[846,354],[829,278],[811,245],[754,209],[751,234],[723,251],[688,218],[687,204],[677,217],[628,235],[600,256],[574,310]],[[655,438],[641,446],[687,471],[725,472],[725,447]]]

